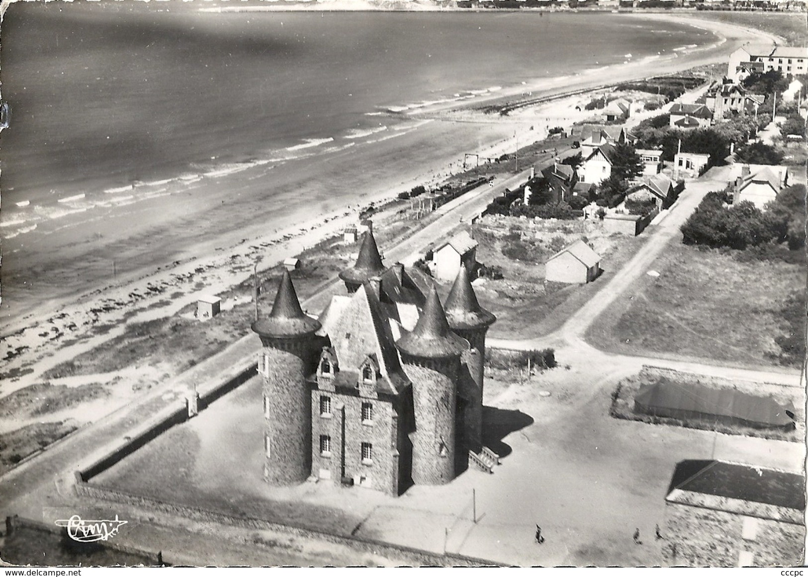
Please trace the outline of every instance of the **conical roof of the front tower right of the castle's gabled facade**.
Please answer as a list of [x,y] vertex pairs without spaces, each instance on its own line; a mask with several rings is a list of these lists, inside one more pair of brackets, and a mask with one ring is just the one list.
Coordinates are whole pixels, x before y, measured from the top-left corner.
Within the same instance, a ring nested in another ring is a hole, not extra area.
[[444,308],[440,305],[438,292],[433,287],[427,297],[427,304],[415,324],[415,329],[398,339],[396,347],[410,356],[430,359],[459,356],[467,349],[468,343],[455,335],[446,321]]

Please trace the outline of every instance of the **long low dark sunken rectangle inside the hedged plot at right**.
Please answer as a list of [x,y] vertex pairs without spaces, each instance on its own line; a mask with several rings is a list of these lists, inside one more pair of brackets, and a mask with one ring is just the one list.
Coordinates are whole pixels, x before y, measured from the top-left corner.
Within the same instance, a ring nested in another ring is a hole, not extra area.
[[736,389],[714,389],[661,377],[634,397],[634,411],[675,419],[701,419],[756,428],[794,428],[794,406]]

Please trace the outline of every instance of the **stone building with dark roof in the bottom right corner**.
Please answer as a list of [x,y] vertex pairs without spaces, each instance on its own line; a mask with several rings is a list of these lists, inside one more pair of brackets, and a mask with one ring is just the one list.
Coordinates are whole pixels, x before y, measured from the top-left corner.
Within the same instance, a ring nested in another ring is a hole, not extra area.
[[669,565],[802,566],[805,477],[730,461],[676,464],[665,497]]

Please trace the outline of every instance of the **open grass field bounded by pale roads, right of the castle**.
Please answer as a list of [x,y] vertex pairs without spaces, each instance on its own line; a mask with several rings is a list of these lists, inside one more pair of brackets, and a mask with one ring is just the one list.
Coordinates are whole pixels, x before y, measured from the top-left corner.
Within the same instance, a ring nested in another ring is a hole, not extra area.
[[727,252],[671,245],[654,268],[660,276],[638,280],[595,321],[587,340],[607,351],[664,358],[751,366],[797,360],[784,356],[776,339],[793,332],[784,310],[805,291],[800,265],[741,263]]

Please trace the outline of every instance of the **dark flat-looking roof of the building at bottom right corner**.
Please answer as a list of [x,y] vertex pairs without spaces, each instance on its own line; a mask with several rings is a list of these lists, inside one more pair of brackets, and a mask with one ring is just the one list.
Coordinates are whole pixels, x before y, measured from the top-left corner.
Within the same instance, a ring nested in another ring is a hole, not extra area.
[[802,475],[727,461],[680,461],[667,495],[690,491],[803,511],[806,507]]

